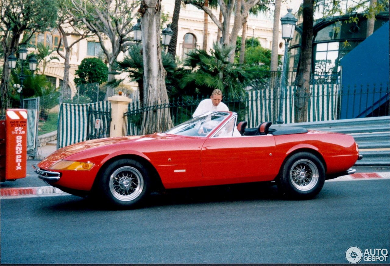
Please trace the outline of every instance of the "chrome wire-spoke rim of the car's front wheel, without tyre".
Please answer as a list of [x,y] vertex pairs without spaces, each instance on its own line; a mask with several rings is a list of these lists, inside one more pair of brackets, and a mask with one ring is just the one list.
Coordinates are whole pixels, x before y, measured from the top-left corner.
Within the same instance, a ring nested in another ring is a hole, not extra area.
[[110,176],[110,191],[121,201],[136,199],[144,189],[144,178],[140,171],[131,166],[122,166]]

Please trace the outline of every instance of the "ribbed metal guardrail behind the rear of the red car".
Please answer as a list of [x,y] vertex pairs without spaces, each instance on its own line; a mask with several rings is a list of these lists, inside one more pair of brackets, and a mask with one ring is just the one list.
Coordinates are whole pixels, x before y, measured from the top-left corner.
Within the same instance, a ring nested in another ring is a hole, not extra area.
[[349,134],[363,159],[356,166],[390,165],[390,116],[283,124]]

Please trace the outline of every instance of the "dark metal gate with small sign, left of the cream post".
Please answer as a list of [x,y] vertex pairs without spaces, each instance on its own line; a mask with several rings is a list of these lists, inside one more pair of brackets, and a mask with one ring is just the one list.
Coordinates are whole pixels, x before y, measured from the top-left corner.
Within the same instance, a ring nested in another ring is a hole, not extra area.
[[88,107],[87,140],[110,136],[111,108],[105,110]]

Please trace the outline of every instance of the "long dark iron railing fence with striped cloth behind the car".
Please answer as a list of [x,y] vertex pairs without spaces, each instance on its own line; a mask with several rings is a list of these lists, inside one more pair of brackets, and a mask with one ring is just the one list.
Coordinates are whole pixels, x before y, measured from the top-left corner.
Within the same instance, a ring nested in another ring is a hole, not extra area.
[[[223,99],[230,111],[237,112],[239,121],[248,121],[248,127],[257,127],[261,122],[276,123],[279,116],[279,105],[283,104],[282,119],[284,123],[294,123],[296,86],[285,88],[284,97],[280,98],[280,89],[261,89],[248,91],[245,97],[239,99]],[[369,96],[367,96],[369,95]],[[363,101],[362,98],[366,100]],[[142,133],[143,116],[146,111],[158,111],[169,108],[173,125],[178,125],[192,117],[199,102],[206,97],[190,100],[174,100],[169,104],[141,106],[138,102],[129,104],[123,116],[123,136],[140,135]],[[367,100],[368,99],[368,100]],[[367,87],[366,90],[341,89],[337,84],[322,84],[310,86],[307,122],[328,121],[346,118],[356,118],[361,113],[346,112],[351,104],[365,110],[364,117],[389,115],[389,85]],[[367,101],[369,102],[367,104]],[[363,106],[364,105],[364,106]],[[359,110],[360,110],[359,109]],[[164,112],[159,112],[164,113]],[[165,112],[166,113],[166,112]],[[356,116],[354,116],[356,115]],[[161,118],[156,118],[156,120]]]

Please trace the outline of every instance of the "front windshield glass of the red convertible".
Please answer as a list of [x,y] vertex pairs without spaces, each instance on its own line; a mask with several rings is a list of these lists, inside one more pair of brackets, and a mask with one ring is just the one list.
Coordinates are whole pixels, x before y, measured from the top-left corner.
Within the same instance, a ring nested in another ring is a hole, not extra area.
[[228,112],[207,112],[181,123],[164,133],[181,136],[206,136],[227,116],[229,116]]

